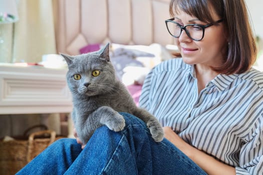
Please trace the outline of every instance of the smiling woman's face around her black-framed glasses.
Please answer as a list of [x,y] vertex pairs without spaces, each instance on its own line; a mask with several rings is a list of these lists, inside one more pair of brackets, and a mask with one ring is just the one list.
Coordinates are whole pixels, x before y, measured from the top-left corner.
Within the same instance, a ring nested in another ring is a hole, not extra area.
[[[174,20],[182,26],[190,23],[207,24],[182,10],[178,11],[178,14],[174,16]],[[220,17],[213,13],[213,19],[219,20]],[[227,49],[227,38],[224,32],[223,22],[220,22],[217,25],[205,28],[203,39],[195,41],[189,38],[185,31],[182,30],[179,38],[175,39],[183,61],[187,64],[202,64],[213,67],[221,65]]]

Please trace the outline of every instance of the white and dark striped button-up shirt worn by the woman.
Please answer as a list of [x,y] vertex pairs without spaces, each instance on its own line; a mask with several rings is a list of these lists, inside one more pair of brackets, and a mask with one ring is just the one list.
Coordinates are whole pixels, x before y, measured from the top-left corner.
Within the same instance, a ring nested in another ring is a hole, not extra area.
[[262,72],[219,74],[198,94],[194,66],[170,59],[146,77],[140,106],[236,174],[263,174]]

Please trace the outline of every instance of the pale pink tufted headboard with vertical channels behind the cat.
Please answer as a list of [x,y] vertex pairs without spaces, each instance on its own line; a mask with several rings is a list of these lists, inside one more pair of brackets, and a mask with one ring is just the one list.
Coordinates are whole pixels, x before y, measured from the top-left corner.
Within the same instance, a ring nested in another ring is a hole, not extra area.
[[55,0],[57,51],[87,44],[172,44],[164,20],[170,0]]

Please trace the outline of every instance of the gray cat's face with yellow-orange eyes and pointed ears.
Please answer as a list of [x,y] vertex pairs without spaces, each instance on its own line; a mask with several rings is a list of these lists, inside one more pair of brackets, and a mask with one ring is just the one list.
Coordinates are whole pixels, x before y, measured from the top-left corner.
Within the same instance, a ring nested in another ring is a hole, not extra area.
[[113,90],[115,71],[109,59],[109,44],[96,52],[62,56],[69,66],[67,81],[73,94],[94,96]]

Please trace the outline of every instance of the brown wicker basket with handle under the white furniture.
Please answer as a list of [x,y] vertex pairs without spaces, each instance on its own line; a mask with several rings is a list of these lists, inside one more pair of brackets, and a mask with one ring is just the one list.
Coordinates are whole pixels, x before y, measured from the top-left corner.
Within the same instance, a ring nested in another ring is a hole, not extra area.
[[55,140],[55,131],[43,130],[26,140],[0,141],[0,174],[15,174]]

